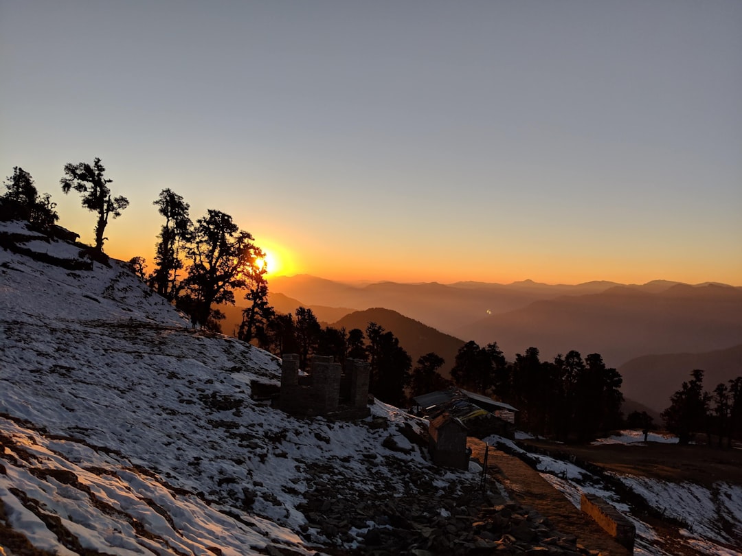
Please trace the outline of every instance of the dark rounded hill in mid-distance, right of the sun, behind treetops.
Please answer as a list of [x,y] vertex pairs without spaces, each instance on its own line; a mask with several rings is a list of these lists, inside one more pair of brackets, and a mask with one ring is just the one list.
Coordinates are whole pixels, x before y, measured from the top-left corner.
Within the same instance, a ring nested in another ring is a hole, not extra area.
[[440,372],[444,377],[450,377],[450,370],[456,359],[456,352],[464,345],[462,340],[443,334],[435,328],[424,325],[422,322],[405,317],[397,311],[384,308],[372,308],[366,311],[356,311],[343,317],[332,326],[345,327],[347,331],[360,328],[366,331],[369,322],[375,322],[390,331],[399,339],[400,345],[407,351],[413,360],[413,367],[421,355],[434,351],[443,357],[445,363]]

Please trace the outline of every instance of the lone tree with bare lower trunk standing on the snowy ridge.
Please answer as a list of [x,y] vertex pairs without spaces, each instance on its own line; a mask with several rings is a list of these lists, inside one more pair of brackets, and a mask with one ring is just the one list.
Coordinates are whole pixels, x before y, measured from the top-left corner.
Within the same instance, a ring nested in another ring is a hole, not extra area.
[[87,162],[80,162],[76,165],[65,164],[65,177],[59,181],[65,194],[69,193],[70,189],[82,193],[82,206],[98,216],[95,226],[95,248],[96,251],[101,252],[103,242],[108,239],[103,236],[105,227],[108,225],[108,218],[121,216],[121,211],[129,205],[126,197],[111,196],[108,184],[114,180],[105,179],[104,172],[105,168],[99,158],[93,161],[92,166]]

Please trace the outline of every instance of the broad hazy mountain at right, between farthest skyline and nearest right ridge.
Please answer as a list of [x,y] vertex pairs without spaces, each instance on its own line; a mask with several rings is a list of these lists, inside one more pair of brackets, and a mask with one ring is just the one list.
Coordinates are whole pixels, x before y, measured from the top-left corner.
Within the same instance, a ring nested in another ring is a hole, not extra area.
[[[651,288],[650,288],[651,289]],[[529,346],[542,359],[571,349],[600,353],[608,365],[651,353],[710,351],[742,338],[742,290],[683,284],[652,293],[615,286],[600,294],[540,300],[464,326],[461,338],[496,341],[511,358]]]

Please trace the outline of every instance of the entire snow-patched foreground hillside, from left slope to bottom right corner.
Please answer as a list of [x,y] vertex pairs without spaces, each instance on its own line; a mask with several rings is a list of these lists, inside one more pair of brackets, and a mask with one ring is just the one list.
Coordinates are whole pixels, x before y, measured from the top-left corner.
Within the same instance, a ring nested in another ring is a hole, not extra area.
[[[482,468],[432,466],[427,422],[398,408],[375,401],[344,422],[253,400],[255,381],[278,384],[278,360],[192,329],[123,262],[91,262],[17,222],[0,222],[0,246],[0,554],[588,555],[603,544],[579,512],[565,534],[548,506],[523,507],[531,479],[499,474],[515,456],[497,453],[482,493]],[[634,441],[626,461],[650,448]],[[700,484],[695,466],[673,479],[646,464],[636,477],[622,462],[622,489],[613,474],[516,456],[573,503],[600,493],[635,523],[636,553],[666,556],[733,554],[742,539],[740,468],[724,453],[707,454],[723,476],[704,468]]]

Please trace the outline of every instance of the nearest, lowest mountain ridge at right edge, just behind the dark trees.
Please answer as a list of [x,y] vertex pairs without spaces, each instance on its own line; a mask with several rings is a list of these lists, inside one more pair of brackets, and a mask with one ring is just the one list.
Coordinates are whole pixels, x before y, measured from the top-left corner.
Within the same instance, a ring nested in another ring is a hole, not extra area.
[[670,396],[683,381],[690,380],[696,368],[706,371],[703,386],[713,391],[718,383],[742,375],[742,344],[704,353],[644,355],[624,363],[618,370],[623,376],[621,389],[625,396],[663,411],[670,405]]

